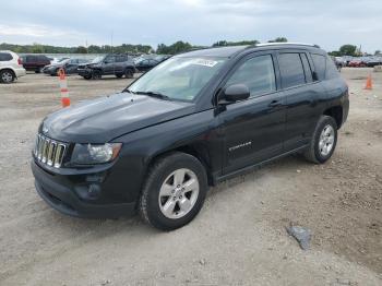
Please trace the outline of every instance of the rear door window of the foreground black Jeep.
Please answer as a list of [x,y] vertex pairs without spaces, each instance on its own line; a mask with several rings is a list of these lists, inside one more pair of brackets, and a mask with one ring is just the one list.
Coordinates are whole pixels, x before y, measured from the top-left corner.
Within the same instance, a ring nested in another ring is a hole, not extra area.
[[280,53],[278,58],[284,88],[306,83],[303,67],[299,53]]

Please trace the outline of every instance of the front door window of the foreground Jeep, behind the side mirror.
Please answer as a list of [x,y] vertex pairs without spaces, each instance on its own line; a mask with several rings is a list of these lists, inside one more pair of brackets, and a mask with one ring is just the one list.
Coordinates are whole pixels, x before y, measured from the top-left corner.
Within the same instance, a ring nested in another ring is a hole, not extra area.
[[276,91],[272,56],[259,56],[247,60],[235,71],[226,86],[232,84],[246,84],[251,97]]

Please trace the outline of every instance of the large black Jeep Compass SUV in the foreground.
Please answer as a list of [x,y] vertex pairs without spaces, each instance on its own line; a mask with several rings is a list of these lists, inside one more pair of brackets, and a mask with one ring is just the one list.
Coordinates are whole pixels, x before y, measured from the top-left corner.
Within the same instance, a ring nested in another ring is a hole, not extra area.
[[199,213],[218,181],[297,152],[326,162],[348,108],[348,87],[318,46],[191,51],[121,93],[46,117],[35,186],[64,214],[139,211],[170,230]]

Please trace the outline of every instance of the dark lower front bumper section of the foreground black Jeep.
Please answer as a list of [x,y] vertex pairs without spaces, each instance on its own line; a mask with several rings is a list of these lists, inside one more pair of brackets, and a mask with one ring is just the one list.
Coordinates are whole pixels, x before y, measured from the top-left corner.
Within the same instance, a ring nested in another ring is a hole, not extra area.
[[[70,188],[63,182],[64,178],[60,178],[62,176],[44,170],[34,159],[31,167],[38,194],[60,213],[86,218],[117,218],[131,216],[135,213],[135,202],[103,203],[99,200],[94,202],[84,200],[76,193],[74,186]],[[81,187],[81,184],[84,183],[79,182],[76,187]]]

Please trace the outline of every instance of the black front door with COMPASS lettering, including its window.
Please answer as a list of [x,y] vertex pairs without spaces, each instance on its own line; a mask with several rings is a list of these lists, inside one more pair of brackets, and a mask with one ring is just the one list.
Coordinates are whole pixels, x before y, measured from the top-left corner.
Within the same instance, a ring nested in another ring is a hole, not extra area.
[[224,87],[246,84],[250,98],[219,114],[224,134],[223,175],[274,157],[283,151],[285,97],[277,90],[275,55],[256,52],[242,59]]

